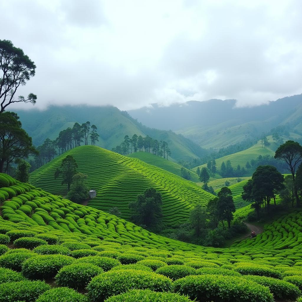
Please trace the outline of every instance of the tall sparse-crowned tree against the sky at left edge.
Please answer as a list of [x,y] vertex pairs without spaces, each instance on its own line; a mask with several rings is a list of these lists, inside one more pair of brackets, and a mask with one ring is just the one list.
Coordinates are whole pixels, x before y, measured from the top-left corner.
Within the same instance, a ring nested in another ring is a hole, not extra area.
[[0,113],[12,103],[36,104],[37,95],[33,93],[27,98],[19,95],[18,99],[15,99],[18,87],[26,85],[35,75],[36,65],[21,48],[14,47],[9,40],[0,40],[0,67],[3,72],[0,77]]

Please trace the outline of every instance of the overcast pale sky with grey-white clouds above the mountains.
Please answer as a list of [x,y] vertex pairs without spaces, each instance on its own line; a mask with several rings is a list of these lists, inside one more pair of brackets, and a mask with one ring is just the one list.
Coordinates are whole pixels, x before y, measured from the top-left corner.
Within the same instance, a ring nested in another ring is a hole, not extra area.
[[18,93],[37,94],[40,109],[212,98],[254,106],[302,93],[300,0],[0,2],[0,39],[37,65]]

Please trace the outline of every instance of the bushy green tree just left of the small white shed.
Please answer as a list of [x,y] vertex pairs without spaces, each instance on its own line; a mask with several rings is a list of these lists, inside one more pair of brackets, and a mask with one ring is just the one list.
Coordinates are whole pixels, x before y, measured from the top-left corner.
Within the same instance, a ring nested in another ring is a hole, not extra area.
[[89,188],[85,184],[85,180],[88,175],[83,173],[76,173],[72,176],[72,184],[70,190],[67,193],[67,198],[73,202],[80,203],[81,201],[88,198]]

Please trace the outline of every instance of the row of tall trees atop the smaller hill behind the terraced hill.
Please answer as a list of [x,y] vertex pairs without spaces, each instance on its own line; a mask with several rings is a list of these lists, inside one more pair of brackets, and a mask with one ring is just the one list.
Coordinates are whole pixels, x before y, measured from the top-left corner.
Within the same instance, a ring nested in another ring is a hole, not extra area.
[[137,134],[133,134],[131,138],[126,135],[124,141],[115,148],[112,148],[112,151],[121,155],[145,151],[166,159],[171,155],[171,150],[167,142],[154,140],[152,137],[149,137],[149,135],[142,137],[141,135],[137,136]]

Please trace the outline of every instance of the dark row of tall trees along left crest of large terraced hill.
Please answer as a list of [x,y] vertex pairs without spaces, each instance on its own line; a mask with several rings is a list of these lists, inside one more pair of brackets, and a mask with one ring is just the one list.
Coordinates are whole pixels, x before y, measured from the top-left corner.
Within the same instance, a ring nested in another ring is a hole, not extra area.
[[62,130],[55,140],[47,138],[41,146],[37,147],[39,153],[34,156],[34,161],[30,161],[31,166],[38,169],[54,159],[56,155],[61,155],[74,147],[81,146],[81,143],[88,145],[88,139],[90,139],[90,144],[95,146],[95,142],[98,141],[99,137],[96,130],[98,128],[87,121],[82,125],[75,123],[72,128],[68,127]]

